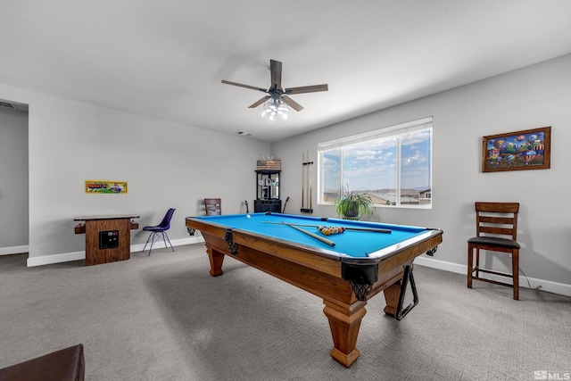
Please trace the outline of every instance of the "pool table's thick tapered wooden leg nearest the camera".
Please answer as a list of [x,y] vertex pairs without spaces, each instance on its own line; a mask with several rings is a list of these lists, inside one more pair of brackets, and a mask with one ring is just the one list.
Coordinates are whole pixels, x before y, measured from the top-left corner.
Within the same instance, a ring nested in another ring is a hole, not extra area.
[[351,367],[357,360],[360,352],[355,348],[359,335],[360,321],[367,313],[367,302],[354,302],[352,304],[337,304],[323,301],[323,312],[329,319],[329,327],[333,336],[334,348],[331,357],[342,364],[345,368]]

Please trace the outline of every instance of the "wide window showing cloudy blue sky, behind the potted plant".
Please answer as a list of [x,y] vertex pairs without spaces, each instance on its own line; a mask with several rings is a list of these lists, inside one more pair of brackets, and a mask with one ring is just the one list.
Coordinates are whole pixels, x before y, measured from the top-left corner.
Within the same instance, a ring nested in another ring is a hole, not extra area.
[[340,189],[376,205],[432,207],[432,117],[318,145],[319,203]]

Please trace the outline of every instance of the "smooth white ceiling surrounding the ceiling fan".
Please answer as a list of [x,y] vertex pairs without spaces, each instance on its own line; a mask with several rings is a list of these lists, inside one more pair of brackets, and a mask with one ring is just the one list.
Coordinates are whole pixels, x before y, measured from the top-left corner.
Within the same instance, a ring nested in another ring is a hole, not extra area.
[[[571,1],[0,0],[0,36],[0,83],[276,141],[569,54]],[[329,91],[261,120],[220,81],[268,88],[270,59]]]

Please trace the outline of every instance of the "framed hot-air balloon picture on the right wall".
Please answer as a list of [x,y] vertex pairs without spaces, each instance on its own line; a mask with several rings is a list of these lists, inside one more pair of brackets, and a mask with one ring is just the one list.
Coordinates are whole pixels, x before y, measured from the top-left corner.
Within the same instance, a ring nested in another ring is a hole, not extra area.
[[547,170],[550,151],[550,127],[483,137],[482,171]]

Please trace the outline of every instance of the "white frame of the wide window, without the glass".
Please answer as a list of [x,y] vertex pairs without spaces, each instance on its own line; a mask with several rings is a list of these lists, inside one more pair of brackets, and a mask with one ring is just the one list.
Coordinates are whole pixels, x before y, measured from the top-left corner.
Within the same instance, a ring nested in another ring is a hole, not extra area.
[[[432,209],[434,193],[432,175],[433,175],[433,117],[426,117],[420,120],[411,120],[406,123],[401,123],[395,126],[380,128],[374,131],[368,131],[358,135],[353,135],[350,137],[342,137],[335,140],[329,140],[327,142],[318,144],[318,204],[320,205],[332,205],[334,203],[326,202],[323,200],[323,182],[324,182],[324,170],[323,170],[323,152],[334,149],[342,148],[346,145],[353,145],[360,142],[365,142],[368,140],[374,140],[383,137],[397,137],[397,179],[396,179],[396,204],[395,205],[382,205],[375,204],[375,207],[386,207],[386,208],[410,208],[410,209]],[[409,132],[420,131],[423,129],[430,130],[430,203],[429,204],[401,204],[401,137]],[[343,173],[343,157],[340,161],[341,172]],[[343,178],[343,176],[342,176]],[[343,180],[342,180],[343,182]],[[342,185],[340,185],[342,187]]]

